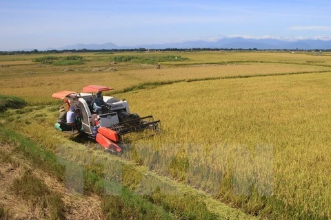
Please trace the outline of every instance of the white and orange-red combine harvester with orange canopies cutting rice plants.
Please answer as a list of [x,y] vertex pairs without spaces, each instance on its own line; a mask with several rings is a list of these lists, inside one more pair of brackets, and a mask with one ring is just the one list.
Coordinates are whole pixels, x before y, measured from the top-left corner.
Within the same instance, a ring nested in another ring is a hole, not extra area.
[[152,115],[140,118],[136,113],[130,113],[126,100],[103,96],[106,106],[102,112],[94,112],[93,102],[97,93],[112,90],[110,87],[89,85],[83,87],[83,92],[59,91],[52,94],[52,98],[68,100],[70,106],[76,108],[79,116],[78,125],[59,124],[55,127],[59,131],[72,133],[86,133],[96,140],[103,148],[112,152],[121,152],[118,144],[123,143],[121,135],[126,133],[153,129],[159,131],[160,120],[154,120]]

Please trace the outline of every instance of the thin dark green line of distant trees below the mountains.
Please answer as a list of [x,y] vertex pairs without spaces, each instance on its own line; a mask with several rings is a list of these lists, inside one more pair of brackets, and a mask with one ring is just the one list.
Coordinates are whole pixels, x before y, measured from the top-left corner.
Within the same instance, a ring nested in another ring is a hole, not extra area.
[[328,50],[289,50],[289,49],[268,49],[268,50],[258,50],[257,48],[250,48],[250,49],[243,49],[243,48],[190,48],[190,49],[183,49],[183,48],[165,48],[165,49],[146,49],[146,48],[132,48],[132,49],[111,49],[111,50],[88,50],[88,49],[80,49],[80,50],[17,50],[17,51],[0,51],[0,55],[17,55],[17,54],[65,54],[65,53],[88,53],[88,52],[94,52],[94,53],[105,53],[105,54],[112,54],[116,52],[155,52],[155,51],[175,51],[175,52],[199,52],[199,51],[282,51],[282,52],[288,52],[288,51],[296,51],[296,52],[331,52],[331,49]]

